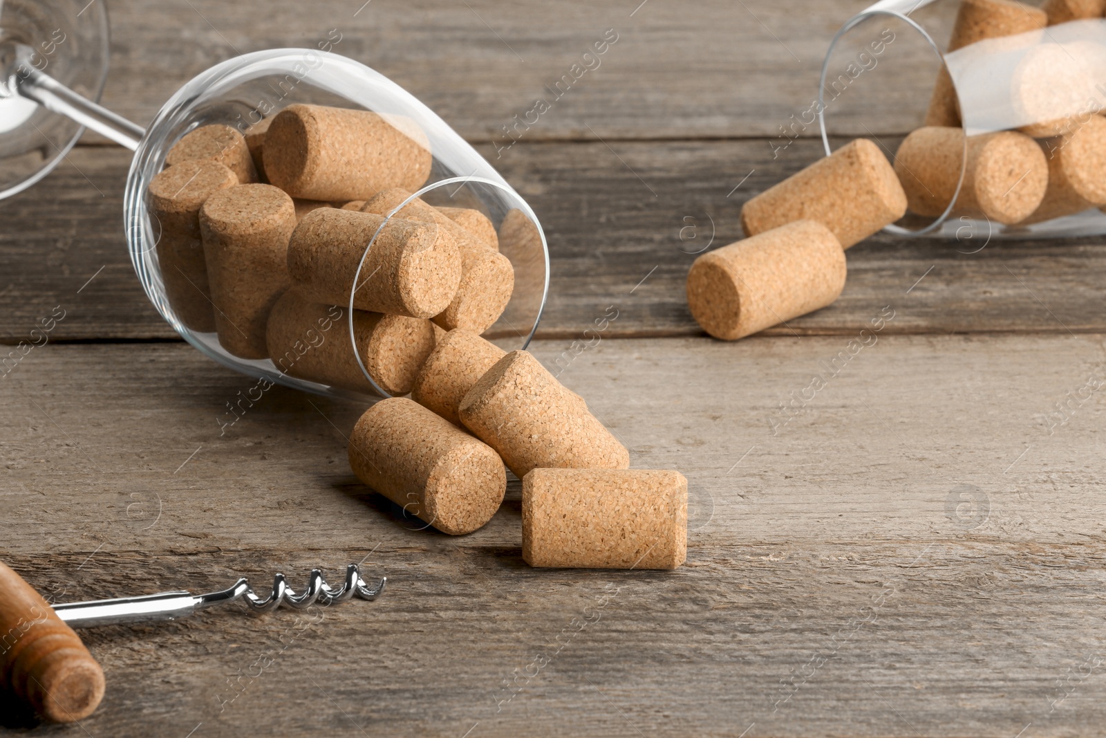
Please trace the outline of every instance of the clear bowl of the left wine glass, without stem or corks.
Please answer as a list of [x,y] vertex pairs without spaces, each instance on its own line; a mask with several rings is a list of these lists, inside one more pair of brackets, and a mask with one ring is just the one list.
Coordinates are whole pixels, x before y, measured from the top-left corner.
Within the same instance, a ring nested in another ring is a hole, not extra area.
[[[313,49],[260,51],[209,69],[161,107],[138,143],[124,200],[127,248],[146,295],[165,320],[197,350],[242,374],[317,394],[367,398],[349,389],[289,376],[268,358],[239,358],[219,344],[215,333],[190,330],[167,299],[158,264],[155,247],[159,224],[150,215],[147,189],[152,178],[164,168],[173,145],[204,125],[227,124],[244,131],[262,116],[269,118],[294,103],[405,116],[421,128],[432,155],[430,177],[414,196],[436,206],[476,208],[497,230],[509,214],[514,219],[529,220],[532,228],[528,232],[533,233],[532,238],[501,245],[501,252],[514,268],[514,291],[503,315],[483,334],[503,349],[525,349],[538,328],[549,291],[549,249],[533,210],[482,156],[410,93],[364,64]],[[365,245],[366,253],[375,239],[376,236]],[[356,354],[356,345],[354,351]],[[379,396],[387,397],[388,393],[368,376],[359,356],[358,362]]]

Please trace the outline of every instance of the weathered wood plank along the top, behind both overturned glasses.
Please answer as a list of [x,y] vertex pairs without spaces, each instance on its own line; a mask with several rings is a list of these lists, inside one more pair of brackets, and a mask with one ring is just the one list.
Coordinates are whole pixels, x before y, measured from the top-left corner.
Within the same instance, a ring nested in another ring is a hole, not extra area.
[[[523,118],[538,98],[553,107],[526,131],[529,141],[778,136],[816,97],[834,33],[868,4],[832,0],[795,12],[768,0],[711,0],[689,12],[656,0],[327,0],[258,12],[254,3],[217,0],[114,3],[104,103],[145,125],[182,84],[217,62],[340,38],[336,53],[395,80],[471,141],[503,137],[503,126],[515,115]],[[946,7],[920,14],[929,25],[928,17],[951,12]],[[947,19],[931,24],[943,29]],[[615,44],[597,61],[582,60],[608,29],[617,34]],[[941,43],[947,37],[937,32]],[[895,43],[885,53],[888,65],[893,58],[900,62],[894,74],[870,83],[881,95],[878,104],[839,110],[832,118],[839,131],[864,133],[867,125],[875,133],[905,133],[918,125],[933,77],[932,54],[908,35]],[[594,69],[576,72],[580,79],[555,98],[546,85],[554,89],[573,64]]]

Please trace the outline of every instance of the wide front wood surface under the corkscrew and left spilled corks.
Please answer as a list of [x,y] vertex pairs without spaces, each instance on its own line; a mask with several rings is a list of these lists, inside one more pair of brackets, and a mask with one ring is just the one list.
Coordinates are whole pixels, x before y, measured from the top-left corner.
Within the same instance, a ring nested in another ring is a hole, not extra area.
[[688,476],[671,573],[530,570],[517,487],[472,536],[410,530],[349,475],[357,407],[278,388],[220,437],[251,382],[187,346],[35,349],[0,557],[64,600],[389,576],[302,633],[88,632],[94,736],[1100,734],[1104,336],[877,336],[602,341],[561,371],[635,467]]

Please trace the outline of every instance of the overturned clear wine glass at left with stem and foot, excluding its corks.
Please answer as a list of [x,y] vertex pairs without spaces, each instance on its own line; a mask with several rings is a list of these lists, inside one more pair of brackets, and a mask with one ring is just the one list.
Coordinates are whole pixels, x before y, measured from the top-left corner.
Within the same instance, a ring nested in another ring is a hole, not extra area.
[[[429,176],[416,191],[380,214],[385,225],[366,238],[365,256],[395,214],[416,197],[438,208],[477,211],[499,233],[511,262],[513,291],[498,320],[482,332],[501,347],[525,349],[549,291],[549,249],[536,216],[505,179],[448,124],[378,72],[322,49],[274,49],[236,56],[184,85],[145,129],[98,104],[108,65],[108,21],[103,3],[86,0],[4,0],[0,4],[0,198],[34,185],[65,157],[85,128],[134,152],[124,198],[127,249],[146,295],[188,343],[237,372],[313,393],[368,399],[401,394],[382,387],[366,368],[353,328],[353,295],[335,305],[336,340],[349,341],[366,382],[345,386],[289,374],[273,358],[243,358],[218,333],[181,320],[166,290],[158,258],[161,224],[150,211],[150,181],[173,146],[201,126],[246,133],[294,104],[376,113],[415,126],[407,135],[430,156]],[[243,279],[249,276],[244,274]],[[353,289],[356,289],[356,284]],[[345,301],[343,301],[345,302]],[[335,340],[326,337],[325,340]],[[305,339],[310,345],[310,339]],[[240,353],[240,352],[239,352]]]

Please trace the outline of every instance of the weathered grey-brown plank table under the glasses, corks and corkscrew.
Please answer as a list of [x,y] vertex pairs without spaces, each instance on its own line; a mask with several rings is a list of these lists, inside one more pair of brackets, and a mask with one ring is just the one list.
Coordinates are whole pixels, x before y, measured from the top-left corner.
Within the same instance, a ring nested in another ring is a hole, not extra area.
[[[437,110],[542,218],[539,358],[618,310],[562,380],[633,466],[688,477],[687,564],[531,570],[518,482],[471,536],[415,530],[349,471],[359,406],[275,388],[220,435],[251,381],[145,300],[123,243],[129,156],[88,136],[0,204],[3,342],[65,311],[2,380],[0,557],[58,601],[358,561],[388,590],[310,617],[86,631],[102,706],[34,732],[1106,732],[1106,403],[1087,391],[1106,378],[1102,239],[971,252],[880,235],[848,251],[833,306],[709,340],[688,252],[739,238],[741,202],[818,156],[814,131],[779,157],[774,137],[866,0],[595,4],[116,2],[104,101],[145,123],[217,61],[336,29],[336,52]],[[502,126],[607,29],[602,66],[497,158]],[[834,132],[894,148],[925,84]],[[885,310],[874,345],[780,408]]]

